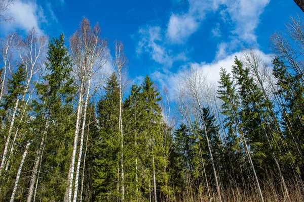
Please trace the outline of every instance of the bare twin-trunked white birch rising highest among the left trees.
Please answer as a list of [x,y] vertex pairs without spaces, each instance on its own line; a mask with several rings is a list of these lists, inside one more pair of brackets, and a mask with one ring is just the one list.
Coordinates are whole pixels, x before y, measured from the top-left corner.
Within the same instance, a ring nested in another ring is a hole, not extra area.
[[[70,56],[74,64],[74,74],[76,77],[75,79],[78,80],[79,85],[79,103],[77,110],[73,151],[67,179],[68,187],[64,196],[64,201],[72,200],[75,159],[77,155],[76,152],[78,147],[78,136],[80,132],[81,111],[83,109],[83,129],[80,137],[79,158],[75,175],[75,190],[73,198],[74,201],[77,200],[87,106],[90,100],[90,96],[96,92],[96,90],[106,78],[106,71],[104,68],[107,62],[106,47],[107,42],[105,39],[101,38],[99,25],[96,24],[92,29],[90,22],[86,18],[84,18],[81,22],[80,29],[77,30],[70,38]],[[96,83],[93,83],[92,85],[93,81],[96,81]]]

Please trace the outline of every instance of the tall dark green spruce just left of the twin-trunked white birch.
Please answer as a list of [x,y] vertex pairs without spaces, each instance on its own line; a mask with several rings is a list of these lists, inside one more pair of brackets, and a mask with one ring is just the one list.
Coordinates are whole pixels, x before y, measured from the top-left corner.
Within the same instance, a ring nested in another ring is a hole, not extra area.
[[[36,85],[39,99],[33,102],[36,113],[34,122],[41,127],[36,129],[37,135],[33,136],[37,156],[32,165],[27,195],[29,202],[36,194],[44,200],[61,200],[66,186],[64,176],[73,128],[71,114],[75,89],[63,34],[50,41],[47,54],[47,74],[43,76],[44,82]],[[43,178],[39,181],[40,177]],[[37,187],[41,190],[38,193]]]

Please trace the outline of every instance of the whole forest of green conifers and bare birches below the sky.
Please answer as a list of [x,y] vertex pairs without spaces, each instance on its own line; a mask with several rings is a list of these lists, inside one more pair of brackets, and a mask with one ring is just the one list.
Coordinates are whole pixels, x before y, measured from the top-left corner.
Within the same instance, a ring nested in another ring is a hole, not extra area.
[[304,200],[300,15],[271,61],[244,49],[217,83],[189,68],[174,97],[109,43],[87,18],[0,39],[0,201]]

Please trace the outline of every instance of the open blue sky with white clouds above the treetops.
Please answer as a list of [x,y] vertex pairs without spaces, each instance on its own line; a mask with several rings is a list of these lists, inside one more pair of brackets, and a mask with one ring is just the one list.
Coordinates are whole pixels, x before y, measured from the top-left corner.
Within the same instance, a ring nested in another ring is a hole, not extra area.
[[303,16],[292,0],[15,0],[8,14],[15,21],[1,24],[0,36],[34,26],[50,38],[68,38],[83,17],[98,22],[112,56],[113,42],[124,43],[131,83],[148,74],[171,96],[189,68],[216,82],[220,67],[230,69],[246,48],[269,58],[270,36],[284,31],[290,16]]

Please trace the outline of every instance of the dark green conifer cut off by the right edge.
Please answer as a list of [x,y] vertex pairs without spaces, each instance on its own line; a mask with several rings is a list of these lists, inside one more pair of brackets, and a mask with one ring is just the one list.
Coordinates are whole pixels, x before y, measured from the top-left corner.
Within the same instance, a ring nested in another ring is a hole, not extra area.
[[[297,175],[303,176],[302,151],[300,149],[303,145],[303,117],[304,117],[304,87],[302,83],[301,74],[292,75],[287,71],[284,62],[276,58],[273,61],[273,74],[277,78],[276,96],[279,100],[279,106],[282,113],[282,125],[284,129],[284,136],[292,156],[287,156],[286,163],[291,160],[294,172]],[[301,177],[300,177],[301,178]]]

